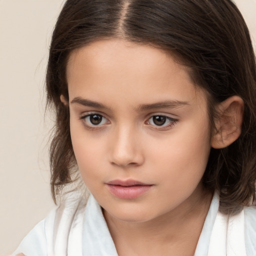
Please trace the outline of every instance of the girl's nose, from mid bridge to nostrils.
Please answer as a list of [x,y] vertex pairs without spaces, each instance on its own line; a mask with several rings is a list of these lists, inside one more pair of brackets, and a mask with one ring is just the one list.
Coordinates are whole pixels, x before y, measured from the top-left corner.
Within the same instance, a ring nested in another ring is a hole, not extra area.
[[121,167],[144,162],[139,134],[131,127],[119,128],[111,138],[110,162]]

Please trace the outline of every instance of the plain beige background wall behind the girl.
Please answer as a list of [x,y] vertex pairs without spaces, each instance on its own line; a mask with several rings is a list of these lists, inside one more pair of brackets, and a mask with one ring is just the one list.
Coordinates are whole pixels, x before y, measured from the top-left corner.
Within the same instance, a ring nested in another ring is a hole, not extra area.
[[[236,2],[256,39],[256,0]],[[0,256],[13,251],[53,207],[43,84],[61,5],[62,0],[0,0]]]

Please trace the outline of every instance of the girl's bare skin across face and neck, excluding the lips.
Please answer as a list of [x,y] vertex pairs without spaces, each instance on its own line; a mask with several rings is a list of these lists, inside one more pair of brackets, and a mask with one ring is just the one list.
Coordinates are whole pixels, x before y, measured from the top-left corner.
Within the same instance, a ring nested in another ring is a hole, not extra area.
[[[162,50],[120,39],[74,50],[67,83],[74,154],[118,255],[193,255],[212,197],[200,182],[212,143],[204,91]],[[170,119],[156,125],[159,115]],[[106,185],[130,178],[152,186],[121,199]]]

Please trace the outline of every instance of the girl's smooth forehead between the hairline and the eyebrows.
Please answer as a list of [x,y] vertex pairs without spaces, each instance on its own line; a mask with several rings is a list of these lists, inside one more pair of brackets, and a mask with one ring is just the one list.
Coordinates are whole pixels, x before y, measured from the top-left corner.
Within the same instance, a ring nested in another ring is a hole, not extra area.
[[[195,100],[198,90],[185,66],[163,50],[119,39],[99,40],[71,52],[69,98],[130,103]],[[202,91],[200,91],[202,93]],[[199,94],[200,94],[199,93]],[[113,102],[112,102],[113,104]]]

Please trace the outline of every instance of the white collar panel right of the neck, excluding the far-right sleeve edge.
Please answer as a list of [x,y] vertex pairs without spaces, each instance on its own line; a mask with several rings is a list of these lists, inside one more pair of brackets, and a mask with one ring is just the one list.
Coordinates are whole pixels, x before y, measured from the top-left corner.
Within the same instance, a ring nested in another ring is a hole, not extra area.
[[204,221],[194,256],[246,256],[244,211],[228,216],[218,211],[215,192]]

